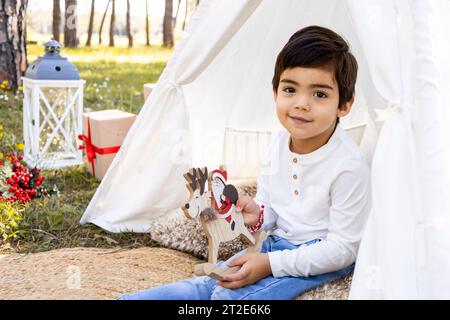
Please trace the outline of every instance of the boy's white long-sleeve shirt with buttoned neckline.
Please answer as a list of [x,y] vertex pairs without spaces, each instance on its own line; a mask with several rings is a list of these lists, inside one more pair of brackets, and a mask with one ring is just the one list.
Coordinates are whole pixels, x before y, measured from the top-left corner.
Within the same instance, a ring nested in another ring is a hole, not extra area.
[[265,206],[264,229],[294,244],[269,252],[274,277],[340,270],[356,260],[370,210],[370,170],[356,143],[338,125],[319,149],[297,154],[286,130],[268,142],[255,201]]

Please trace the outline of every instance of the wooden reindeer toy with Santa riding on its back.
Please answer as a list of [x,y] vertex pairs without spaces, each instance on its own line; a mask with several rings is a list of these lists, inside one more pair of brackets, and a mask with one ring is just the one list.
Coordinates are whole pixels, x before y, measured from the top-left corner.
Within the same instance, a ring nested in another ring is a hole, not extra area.
[[248,251],[256,252],[261,249],[266,234],[264,231],[252,234],[245,226],[242,214],[235,212],[238,192],[233,185],[227,184],[227,171],[223,166],[210,174],[206,167],[192,168],[184,178],[190,195],[182,207],[183,212],[189,219],[199,219],[208,239],[208,263],[195,266],[194,273],[220,280],[223,275],[239,269],[216,266],[220,243],[243,235],[249,243]]

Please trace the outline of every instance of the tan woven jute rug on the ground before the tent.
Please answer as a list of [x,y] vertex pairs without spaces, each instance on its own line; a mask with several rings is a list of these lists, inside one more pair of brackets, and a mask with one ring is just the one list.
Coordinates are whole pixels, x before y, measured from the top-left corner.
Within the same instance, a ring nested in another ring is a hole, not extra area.
[[0,255],[0,299],[116,299],[189,277],[197,262],[186,253],[149,247]]

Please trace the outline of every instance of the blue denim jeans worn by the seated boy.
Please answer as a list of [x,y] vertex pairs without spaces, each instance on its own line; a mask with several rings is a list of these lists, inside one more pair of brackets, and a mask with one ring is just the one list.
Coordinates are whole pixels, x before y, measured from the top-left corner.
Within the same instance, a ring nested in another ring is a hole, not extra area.
[[[312,245],[320,239],[294,245],[278,236],[269,236],[263,243],[261,252],[271,252],[285,249],[296,249],[302,245]],[[245,254],[243,250],[233,257]],[[225,266],[226,262],[219,262]],[[216,280],[207,276],[194,276],[191,279],[180,280],[166,285],[150,288],[144,291],[124,294],[118,300],[288,300],[301,293],[318,287],[325,282],[345,277],[353,271],[354,264],[335,272],[310,277],[268,276],[258,282],[238,288],[227,289],[216,284]]]

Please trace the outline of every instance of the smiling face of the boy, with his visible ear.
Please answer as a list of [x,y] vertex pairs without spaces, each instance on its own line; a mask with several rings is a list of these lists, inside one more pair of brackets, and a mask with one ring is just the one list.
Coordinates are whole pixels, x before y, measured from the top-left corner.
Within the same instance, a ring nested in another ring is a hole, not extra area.
[[338,108],[338,85],[332,71],[322,68],[284,70],[274,98],[278,119],[297,140],[329,138],[336,118],[346,115],[353,102]]

